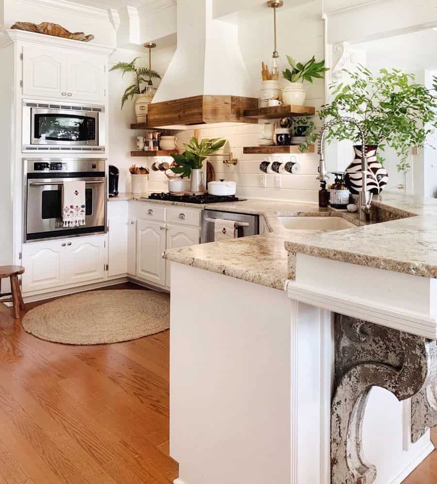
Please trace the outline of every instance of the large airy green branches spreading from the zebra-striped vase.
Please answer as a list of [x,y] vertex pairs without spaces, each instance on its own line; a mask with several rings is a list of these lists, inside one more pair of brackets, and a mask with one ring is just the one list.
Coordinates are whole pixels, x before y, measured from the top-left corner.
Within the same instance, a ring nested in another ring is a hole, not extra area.
[[[335,98],[319,110],[320,119],[353,116],[366,133],[366,143],[377,144],[383,152],[386,146],[392,147],[399,157],[398,171],[407,172],[409,149],[423,147],[437,127],[437,77],[433,89],[427,89],[415,83],[413,74],[398,69],[381,69],[374,76],[360,65],[356,72],[344,72],[351,83],[331,84]],[[341,121],[326,132],[326,140],[333,139],[360,144],[356,126]],[[381,154],[377,157],[385,161]]]

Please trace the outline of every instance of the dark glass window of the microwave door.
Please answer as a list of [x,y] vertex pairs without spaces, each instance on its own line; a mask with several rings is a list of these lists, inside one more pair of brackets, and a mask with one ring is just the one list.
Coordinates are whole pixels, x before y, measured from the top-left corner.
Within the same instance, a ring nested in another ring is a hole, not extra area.
[[76,114],[34,114],[34,137],[47,141],[95,141],[96,118]]

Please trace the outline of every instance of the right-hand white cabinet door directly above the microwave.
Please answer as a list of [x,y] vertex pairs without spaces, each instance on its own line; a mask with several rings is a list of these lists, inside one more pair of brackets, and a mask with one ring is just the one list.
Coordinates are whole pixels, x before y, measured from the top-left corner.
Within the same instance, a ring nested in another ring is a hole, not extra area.
[[105,59],[100,55],[68,54],[67,96],[71,101],[104,101]]

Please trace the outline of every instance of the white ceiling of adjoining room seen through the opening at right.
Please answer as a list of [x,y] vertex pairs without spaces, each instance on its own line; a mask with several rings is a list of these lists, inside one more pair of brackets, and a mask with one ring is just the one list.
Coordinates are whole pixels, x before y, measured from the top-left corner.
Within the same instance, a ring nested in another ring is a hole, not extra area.
[[437,69],[437,31],[422,30],[401,36],[388,37],[354,44],[366,51],[367,63],[375,68],[399,68],[405,71]]

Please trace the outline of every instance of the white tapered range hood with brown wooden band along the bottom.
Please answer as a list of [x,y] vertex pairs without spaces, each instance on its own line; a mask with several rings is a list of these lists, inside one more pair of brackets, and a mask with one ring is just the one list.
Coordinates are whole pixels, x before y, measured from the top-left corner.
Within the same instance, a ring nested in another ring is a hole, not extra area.
[[[213,19],[213,0],[178,0],[177,29],[177,49],[149,106],[149,124],[238,121],[240,108],[257,107],[248,97],[250,81],[238,45],[238,26]],[[225,105],[218,106],[220,101]],[[193,112],[184,114],[201,107],[207,111],[202,119]],[[172,109],[182,112],[171,117]]]

